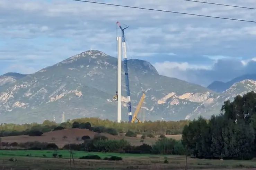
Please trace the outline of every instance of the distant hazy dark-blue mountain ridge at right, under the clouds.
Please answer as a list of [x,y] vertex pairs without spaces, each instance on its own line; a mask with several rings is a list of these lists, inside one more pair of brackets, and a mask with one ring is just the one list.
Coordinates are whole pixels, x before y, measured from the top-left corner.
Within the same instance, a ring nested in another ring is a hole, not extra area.
[[246,79],[251,79],[251,80],[256,80],[256,74],[246,74],[246,75],[242,75],[239,76],[237,78],[232,79],[229,82],[220,82],[220,81],[215,81],[213,83],[211,83],[207,88],[211,89],[214,92],[224,92],[225,90],[227,90],[230,86],[232,86],[233,84],[246,80]]

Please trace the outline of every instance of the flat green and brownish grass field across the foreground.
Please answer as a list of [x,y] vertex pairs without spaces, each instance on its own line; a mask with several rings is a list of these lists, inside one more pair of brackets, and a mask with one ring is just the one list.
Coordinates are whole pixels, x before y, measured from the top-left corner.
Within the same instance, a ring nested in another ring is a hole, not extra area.
[[[69,159],[51,158],[54,151],[0,151],[0,169],[12,170],[68,170],[74,169],[73,162]],[[31,154],[30,156],[25,156]],[[43,154],[49,158],[43,157]],[[63,158],[69,158],[69,151],[60,150],[58,154],[62,154]],[[177,155],[147,155],[147,154],[119,154],[119,153],[93,153],[83,151],[73,151],[74,162],[77,170],[97,169],[97,170],[121,170],[121,169],[140,169],[140,170],[160,170],[185,169],[185,156]],[[123,161],[105,161],[105,160],[80,160],[77,159],[87,154],[97,154],[101,158],[111,155],[120,156]],[[11,162],[9,159],[16,157],[17,162]],[[167,157],[168,164],[164,164],[164,157]],[[199,160],[188,158],[188,169],[248,169],[256,168],[256,160],[239,161],[239,160]]]

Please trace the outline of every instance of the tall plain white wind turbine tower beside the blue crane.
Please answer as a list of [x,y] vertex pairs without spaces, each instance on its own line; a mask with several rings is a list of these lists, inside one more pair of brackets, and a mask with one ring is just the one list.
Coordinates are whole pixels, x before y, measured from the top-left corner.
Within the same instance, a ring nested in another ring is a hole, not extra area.
[[117,37],[117,122],[122,120],[122,38]]

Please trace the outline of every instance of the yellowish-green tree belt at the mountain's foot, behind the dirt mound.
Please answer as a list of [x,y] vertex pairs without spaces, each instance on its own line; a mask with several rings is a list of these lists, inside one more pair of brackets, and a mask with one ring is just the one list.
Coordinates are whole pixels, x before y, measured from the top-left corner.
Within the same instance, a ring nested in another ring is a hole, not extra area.
[[[187,120],[183,121],[147,121],[144,123],[130,123],[121,122],[117,123],[110,120],[101,120],[95,117],[85,117],[80,119],[68,120],[63,123],[56,123],[53,121],[45,120],[42,124],[31,123],[31,124],[13,124],[13,123],[2,123],[0,124],[0,136],[15,136],[28,134],[31,130],[39,130],[43,133],[53,131],[56,127],[61,126],[65,129],[72,128],[73,123],[76,124],[76,128],[85,128],[86,123],[90,123],[94,127],[105,127],[115,129],[119,133],[126,133],[133,131],[137,134],[151,133],[154,135],[159,134],[181,134],[183,128],[189,123]],[[97,129],[99,129],[97,128]],[[96,130],[97,130],[96,129]],[[101,128],[102,129],[102,128]]]

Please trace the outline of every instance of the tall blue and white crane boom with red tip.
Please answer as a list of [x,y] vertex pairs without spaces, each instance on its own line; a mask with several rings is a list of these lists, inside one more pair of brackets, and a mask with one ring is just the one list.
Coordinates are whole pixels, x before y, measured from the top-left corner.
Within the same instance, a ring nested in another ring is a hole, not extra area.
[[125,44],[125,37],[124,37],[124,30],[126,28],[128,28],[128,27],[122,28],[121,24],[118,21],[116,22],[116,24],[121,29],[121,32],[122,32],[122,46],[123,46],[123,57],[124,57],[124,74],[125,74],[125,85],[126,85],[126,101],[127,101],[129,122],[131,122],[132,121],[132,108],[131,108],[131,97],[130,97],[128,67],[127,67],[126,44]]

